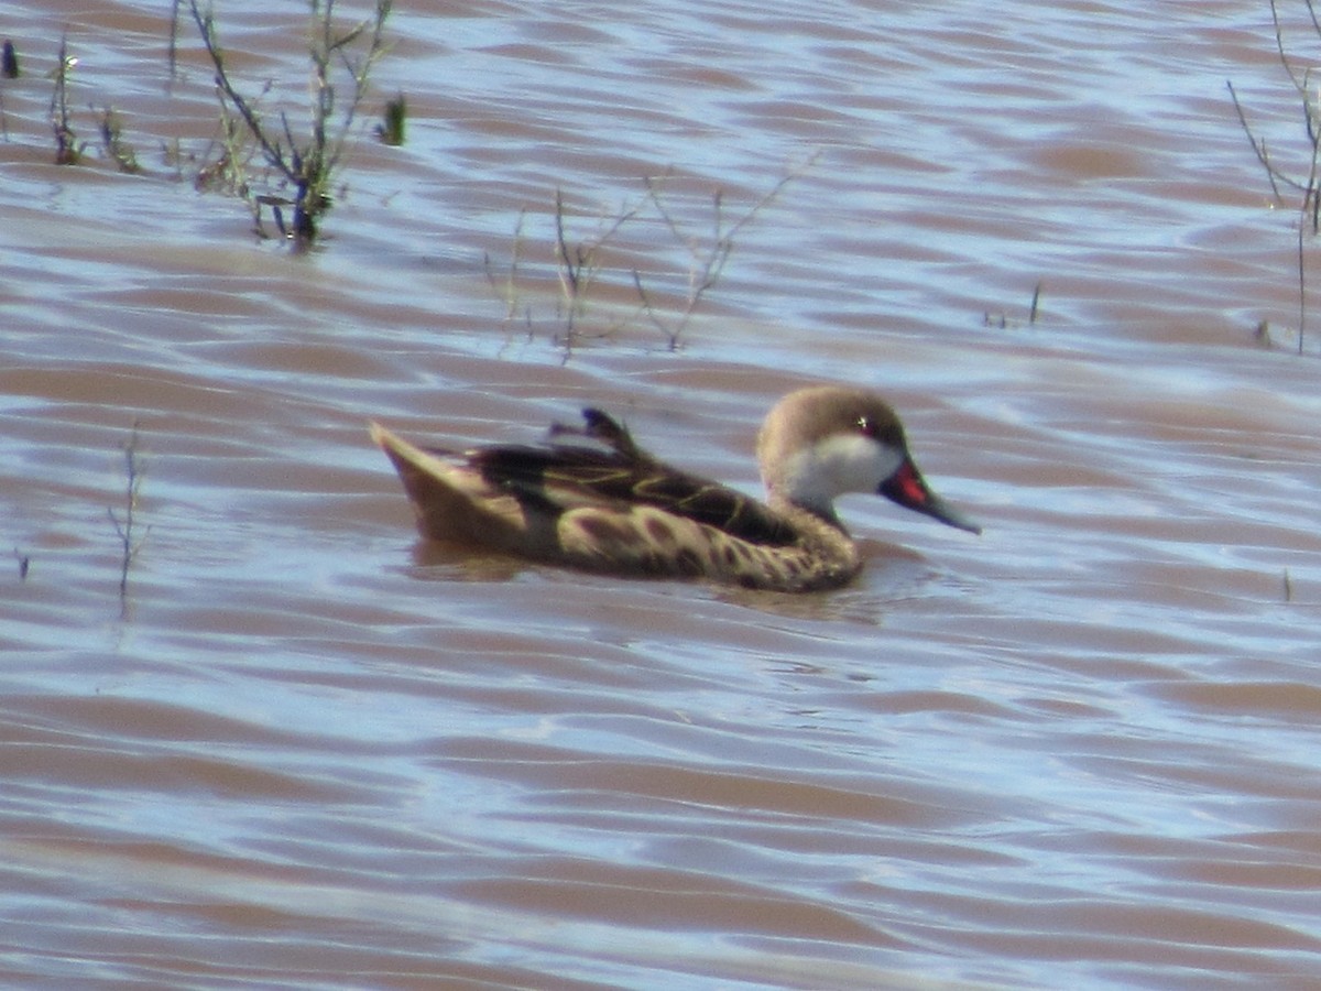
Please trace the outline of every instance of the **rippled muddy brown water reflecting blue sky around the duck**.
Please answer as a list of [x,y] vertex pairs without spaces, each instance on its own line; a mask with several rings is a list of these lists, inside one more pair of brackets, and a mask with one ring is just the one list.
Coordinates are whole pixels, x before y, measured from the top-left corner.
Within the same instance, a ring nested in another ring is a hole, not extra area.
[[[305,127],[305,7],[217,15]],[[3,983],[1321,983],[1321,337],[1225,87],[1305,169],[1266,3],[400,3],[304,255],[194,189],[168,4],[0,34]],[[592,403],[756,490],[823,379],[985,534],[852,497],[865,572],[799,597],[456,556],[365,429]]]

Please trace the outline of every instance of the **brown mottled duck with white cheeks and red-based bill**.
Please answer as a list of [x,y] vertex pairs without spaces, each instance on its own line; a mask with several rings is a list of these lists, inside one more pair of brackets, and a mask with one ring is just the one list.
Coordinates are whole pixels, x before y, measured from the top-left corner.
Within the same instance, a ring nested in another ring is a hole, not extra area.
[[540,445],[427,448],[379,423],[373,440],[431,540],[634,577],[704,579],[779,592],[849,583],[863,568],[835,510],[882,495],[947,526],[979,526],[918,470],[890,406],[867,388],[808,386],[782,398],[757,437],[765,502],[666,464],[609,414],[553,425]]

